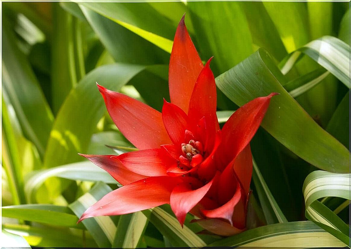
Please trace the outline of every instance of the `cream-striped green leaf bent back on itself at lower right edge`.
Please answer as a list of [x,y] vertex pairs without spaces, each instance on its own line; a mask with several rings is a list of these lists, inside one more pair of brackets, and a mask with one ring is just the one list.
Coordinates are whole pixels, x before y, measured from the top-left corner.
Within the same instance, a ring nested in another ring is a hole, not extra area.
[[350,173],[313,171],[304,182],[306,217],[345,244],[349,243],[349,226],[318,199],[335,196],[350,200]]

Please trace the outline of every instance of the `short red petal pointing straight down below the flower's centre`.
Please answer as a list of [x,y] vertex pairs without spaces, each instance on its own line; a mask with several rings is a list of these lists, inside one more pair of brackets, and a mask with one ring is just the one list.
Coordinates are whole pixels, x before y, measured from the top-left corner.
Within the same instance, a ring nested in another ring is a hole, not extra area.
[[192,189],[193,186],[190,183],[179,184],[173,189],[170,199],[171,208],[182,227],[186,214],[206,195],[213,183],[213,179],[196,190]]

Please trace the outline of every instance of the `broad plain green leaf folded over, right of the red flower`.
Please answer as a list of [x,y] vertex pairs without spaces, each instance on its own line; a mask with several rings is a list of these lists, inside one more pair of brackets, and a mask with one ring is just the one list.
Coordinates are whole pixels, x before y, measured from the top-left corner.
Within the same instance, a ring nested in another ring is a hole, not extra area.
[[332,172],[348,172],[349,151],[296,103],[283,88],[284,81],[264,49],[216,78],[219,89],[239,106],[271,92],[280,93],[271,99],[262,127],[312,165]]

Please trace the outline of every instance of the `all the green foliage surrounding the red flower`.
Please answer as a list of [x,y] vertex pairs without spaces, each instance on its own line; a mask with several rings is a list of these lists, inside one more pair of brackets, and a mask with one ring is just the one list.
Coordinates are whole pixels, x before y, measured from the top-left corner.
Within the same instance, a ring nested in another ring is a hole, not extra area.
[[[348,244],[349,12],[347,2],[4,2],[7,246]],[[222,124],[254,97],[281,93],[251,142],[252,229],[228,238],[199,233],[191,215],[181,229],[169,205],[77,225],[87,207],[119,186],[77,153],[133,149],[95,81],[161,110],[184,13],[201,59],[214,55]]]

